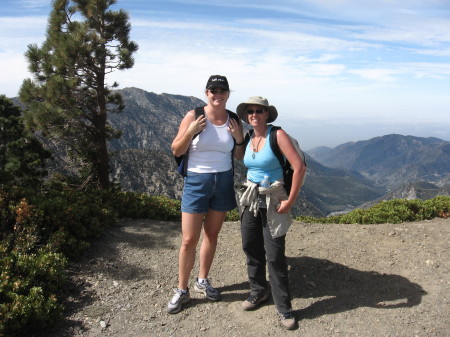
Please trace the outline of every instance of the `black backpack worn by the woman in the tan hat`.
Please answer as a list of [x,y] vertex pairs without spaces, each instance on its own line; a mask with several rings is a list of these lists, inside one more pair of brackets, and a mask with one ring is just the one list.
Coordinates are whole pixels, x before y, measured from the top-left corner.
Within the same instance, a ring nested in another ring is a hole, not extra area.
[[[289,195],[289,193],[291,192],[292,175],[294,174],[294,170],[292,169],[291,163],[289,163],[287,158],[285,158],[283,156],[283,153],[281,152],[280,147],[278,146],[277,130],[280,130],[280,129],[281,129],[280,126],[272,126],[272,129],[270,130],[270,135],[269,135],[269,143],[270,143],[270,147],[272,148],[272,151],[273,151],[275,157],[277,157],[278,161],[280,162],[280,166],[283,171],[284,188],[286,189],[286,193]],[[253,134],[253,130],[249,130],[249,132],[245,136],[245,146],[247,146],[248,142],[250,141],[252,134]],[[307,166],[305,154],[300,149],[300,145],[298,144],[297,139],[295,139],[294,137],[292,137],[289,134],[288,134],[288,136],[292,142],[292,145],[294,145],[294,148],[297,150],[298,155],[302,159],[303,164],[305,164],[305,166]],[[303,180],[300,184],[300,187],[303,186],[303,184],[305,183],[305,178],[306,178],[306,174],[303,176]]]

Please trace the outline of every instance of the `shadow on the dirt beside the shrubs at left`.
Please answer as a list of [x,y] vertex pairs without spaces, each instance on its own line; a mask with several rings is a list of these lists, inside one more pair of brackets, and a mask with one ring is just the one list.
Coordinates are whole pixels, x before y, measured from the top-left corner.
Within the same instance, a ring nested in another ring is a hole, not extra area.
[[73,331],[80,334],[87,333],[82,321],[66,317],[71,317],[74,313],[87,307],[93,311],[90,314],[96,317],[110,309],[102,305],[92,306],[97,301],[95,292],[89,290],[92,285],[77,278],[76,275],[84,269],[109,274],[117,280],[139,281],[152,278],[150,269],[119,259],[119,246],[142,248],[143,251],[171,247],[168,239],[178,235],[179,231],[179,222],[148,221],[146,219],[123,220],[117,226],[108,228],[76,261],[70,263],[68,280],[63,293],[60,294],[60,301],[64,303],[63,318],[51,329],[48,329],[51,331],[30,332],[28,336],[69,337],[73,336]]

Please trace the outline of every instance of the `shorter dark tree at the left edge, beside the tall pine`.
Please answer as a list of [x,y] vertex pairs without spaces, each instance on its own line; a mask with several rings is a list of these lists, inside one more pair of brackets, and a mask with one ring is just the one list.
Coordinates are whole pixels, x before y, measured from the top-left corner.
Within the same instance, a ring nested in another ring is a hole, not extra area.
[[50,153],[26,132],[21,110],[0,95],[0,189],[36,188],[45,176]]

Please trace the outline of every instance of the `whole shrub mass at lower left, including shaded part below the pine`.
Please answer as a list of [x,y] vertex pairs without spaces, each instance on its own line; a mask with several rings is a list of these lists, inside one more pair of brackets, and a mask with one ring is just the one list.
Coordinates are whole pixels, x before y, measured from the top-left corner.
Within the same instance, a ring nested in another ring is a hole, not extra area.
[[26,335],[60,316],[69,259],[117,223],[114,191],[46,187],[19,198],[0,191],[0,336]]

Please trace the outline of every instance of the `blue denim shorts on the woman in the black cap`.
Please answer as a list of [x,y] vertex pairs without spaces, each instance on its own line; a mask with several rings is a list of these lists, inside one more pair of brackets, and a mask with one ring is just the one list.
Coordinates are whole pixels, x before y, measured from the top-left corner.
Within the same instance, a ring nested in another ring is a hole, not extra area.
[[189,172],[184,177],[181,211],[206,213],[209,209],[227,212],[236,208],[233,170],[217,173]]

